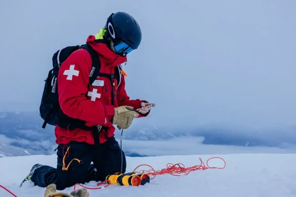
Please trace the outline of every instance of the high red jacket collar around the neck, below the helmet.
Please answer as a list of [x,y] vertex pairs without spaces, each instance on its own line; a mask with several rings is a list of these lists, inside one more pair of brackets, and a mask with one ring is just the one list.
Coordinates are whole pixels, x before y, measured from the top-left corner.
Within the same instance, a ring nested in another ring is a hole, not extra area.
[[126,62],[126,57],[113,53],[104,42],[95,42],[95,40],[96,38],[94,35],[89,35],[86,43],[104,59],[106,66],[115,67]]

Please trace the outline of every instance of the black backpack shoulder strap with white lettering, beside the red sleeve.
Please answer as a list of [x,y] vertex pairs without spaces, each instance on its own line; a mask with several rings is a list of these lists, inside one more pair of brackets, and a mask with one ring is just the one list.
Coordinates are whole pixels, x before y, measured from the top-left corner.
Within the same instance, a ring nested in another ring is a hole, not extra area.
[[100,60],[98,58],[97,53],[89,44],[83,44],[79,48],[83,48],[87,50],[91,56],[92,66],[91,66],[91,71],[89,73],[89,84],[92,84],[97,78],[97,76],[99,76],[100,74],[100,69],[101,69]]

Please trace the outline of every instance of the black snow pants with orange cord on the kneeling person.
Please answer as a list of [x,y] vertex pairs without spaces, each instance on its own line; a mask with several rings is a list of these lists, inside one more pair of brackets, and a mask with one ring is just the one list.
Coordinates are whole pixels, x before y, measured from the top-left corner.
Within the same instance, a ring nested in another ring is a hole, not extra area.
[[38,167],[31,177],[35,185],[46,187],[54,183],[57,190],[64,190],[76,183],[104,181],[107,175],[120,173],[121,168],[124,173],[126,169],[124,152],[121,152],[114,137],[103,144],[96,142],[94,145],[72,141],[60,144],[57,150],[57,168],[48,165]]

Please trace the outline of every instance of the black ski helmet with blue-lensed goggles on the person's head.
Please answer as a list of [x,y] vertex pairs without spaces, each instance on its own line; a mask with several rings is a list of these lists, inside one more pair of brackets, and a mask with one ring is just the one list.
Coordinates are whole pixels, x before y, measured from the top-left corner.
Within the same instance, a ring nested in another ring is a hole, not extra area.
[[115,51],[126,55],[137,49],[142,40],[142,32],[138,22],[128,13],[112,13],[104,27],[105,39],[112,40]]

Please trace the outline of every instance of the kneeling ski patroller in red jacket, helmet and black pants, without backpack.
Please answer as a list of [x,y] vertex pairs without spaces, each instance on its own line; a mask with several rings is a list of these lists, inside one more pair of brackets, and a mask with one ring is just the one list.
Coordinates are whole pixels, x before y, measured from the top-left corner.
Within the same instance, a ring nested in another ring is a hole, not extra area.
[[[111,14],[98,34],[86,40],[95,51],[92,55],[100,61],[100,73],[106,75],[100,74],[94,83],[88,83],[92,57],[85,49],[74,51],[62,63],[57,80],[62,112],[96,129],[56,125],[57,167],[35,164],[23,182],[30,180],[39,187],[55,184],[57,190],[64,190],[76,183],[103,181],[110,174],[125,172],[125,155],[114,138],[113,125],[126,129],[134,118],[145,117],[150,111],[147,101],[127,96],[121,70],[127,54],[138,48],[141,39],[136,20],[117,12]],[[119,80],[107,77],[116,71]]]

